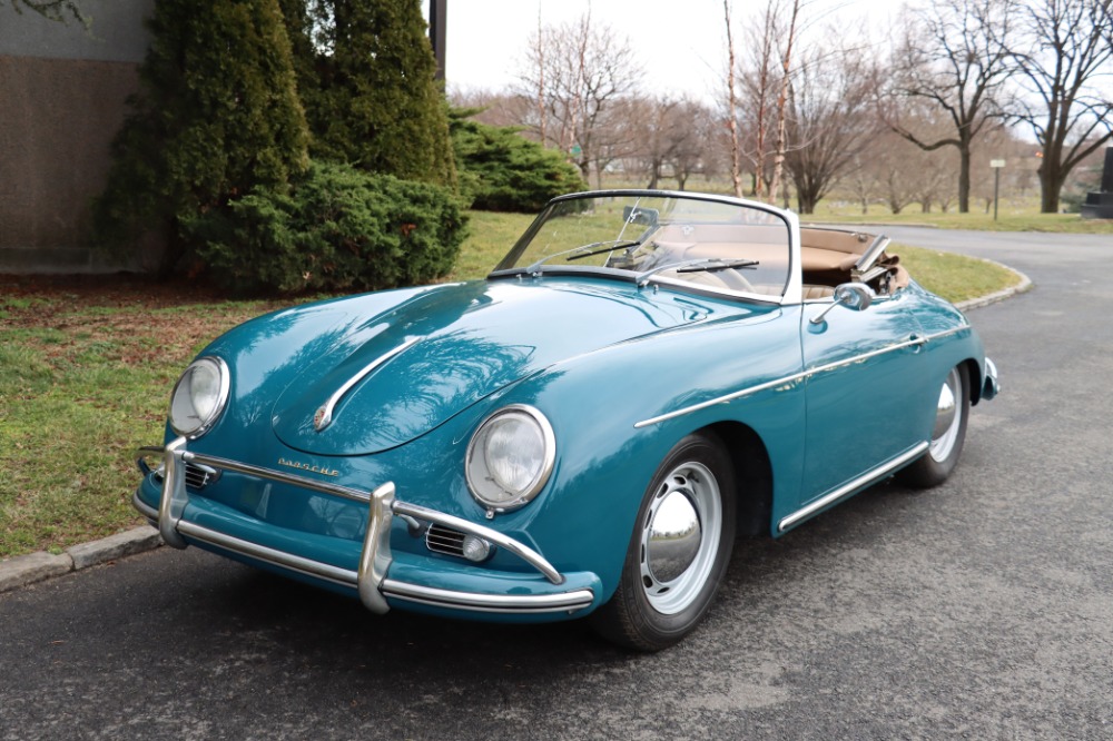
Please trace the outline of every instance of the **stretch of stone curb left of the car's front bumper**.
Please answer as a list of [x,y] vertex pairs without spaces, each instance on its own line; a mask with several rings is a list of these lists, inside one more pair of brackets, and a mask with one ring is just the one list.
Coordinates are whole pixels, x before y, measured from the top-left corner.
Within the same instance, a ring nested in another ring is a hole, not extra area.
[[99,541],[75,545],[60,555],[39,551],[7,559],[0,561],[0,592],[151,551],[161,544],[162,539],[158,531],[149,525],[142,525]]

